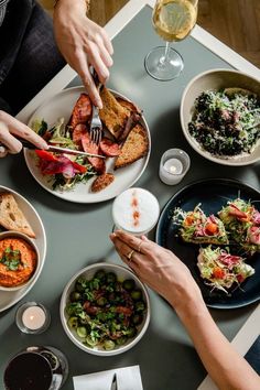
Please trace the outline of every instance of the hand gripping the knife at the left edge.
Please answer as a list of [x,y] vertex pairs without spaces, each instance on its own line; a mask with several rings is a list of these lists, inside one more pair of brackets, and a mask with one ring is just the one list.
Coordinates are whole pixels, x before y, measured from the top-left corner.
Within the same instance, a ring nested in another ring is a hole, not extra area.
[[4,111],[0,111],[0,158],[8,153],[15,154],[22,150],[22,143],[17,139],[23,138],[39,149],[47,149],[47,143],[28,126]]

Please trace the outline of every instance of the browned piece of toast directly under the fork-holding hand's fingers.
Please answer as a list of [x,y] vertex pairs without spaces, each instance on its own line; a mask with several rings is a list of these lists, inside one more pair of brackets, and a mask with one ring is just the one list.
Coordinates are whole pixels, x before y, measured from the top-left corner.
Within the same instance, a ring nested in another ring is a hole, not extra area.
[[119,139],[126,127],[130,111],[128,108],[122,107],[107,88],[102,88],[100,97],[104,106],[99,111],[100,119],[110,133],[116,139]]

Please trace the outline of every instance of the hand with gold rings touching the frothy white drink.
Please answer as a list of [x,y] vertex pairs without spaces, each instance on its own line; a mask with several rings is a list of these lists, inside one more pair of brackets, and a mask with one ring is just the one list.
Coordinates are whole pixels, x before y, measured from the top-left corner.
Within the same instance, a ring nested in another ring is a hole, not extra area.
[[173,252],[144,236],[140,239],[116,231],[110,238],[122,261],[176,311],[182,311],[183,307],[188,310],[188,304],[193,305],[194,300],[203,303],[201,291],[189,270]]

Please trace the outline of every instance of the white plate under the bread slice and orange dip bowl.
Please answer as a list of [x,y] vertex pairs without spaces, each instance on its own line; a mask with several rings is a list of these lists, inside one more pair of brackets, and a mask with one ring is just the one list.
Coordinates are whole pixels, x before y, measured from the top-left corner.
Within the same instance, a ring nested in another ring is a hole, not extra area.
[[32,282],[31,283],[29,282],[29,284],[26,284],[23,289],[17,291],[0,291],[0,312],[3,312],[4,310],[11,307],[17,302],[19,302],[23,296],[25,296],[26,293],[29,293],[29,291],[35,284],[37,278],[42,272],[43,264],[45,261],[45,256],[46,256],[45,229],[35,208],[22,195],[18,194],[15,191],[0,185],[0,193],[3,192],[11,193],[14,196],[19,207],[25,215],[26,219],[29,220],[30,225],[33,228],[33,231],[36,235],[34,242],[39,249],[40,269],[35,278],[32,279]]

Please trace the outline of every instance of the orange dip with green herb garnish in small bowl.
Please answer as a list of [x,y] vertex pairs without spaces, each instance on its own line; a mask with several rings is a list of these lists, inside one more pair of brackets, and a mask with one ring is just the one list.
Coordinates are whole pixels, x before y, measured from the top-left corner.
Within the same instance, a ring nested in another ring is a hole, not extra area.
[[[11,250],[11,254],[8,260],[4,260],[7,259],[7,250]],[[19,251],[17,252],[19,254],[12,254],[13,251]],[[14,268],[14,270],[10,268]],[[14,288],[23,284],[32,277],[35,268],[36,253],[29,242],[14,237],[0,240],[0,285]]]

